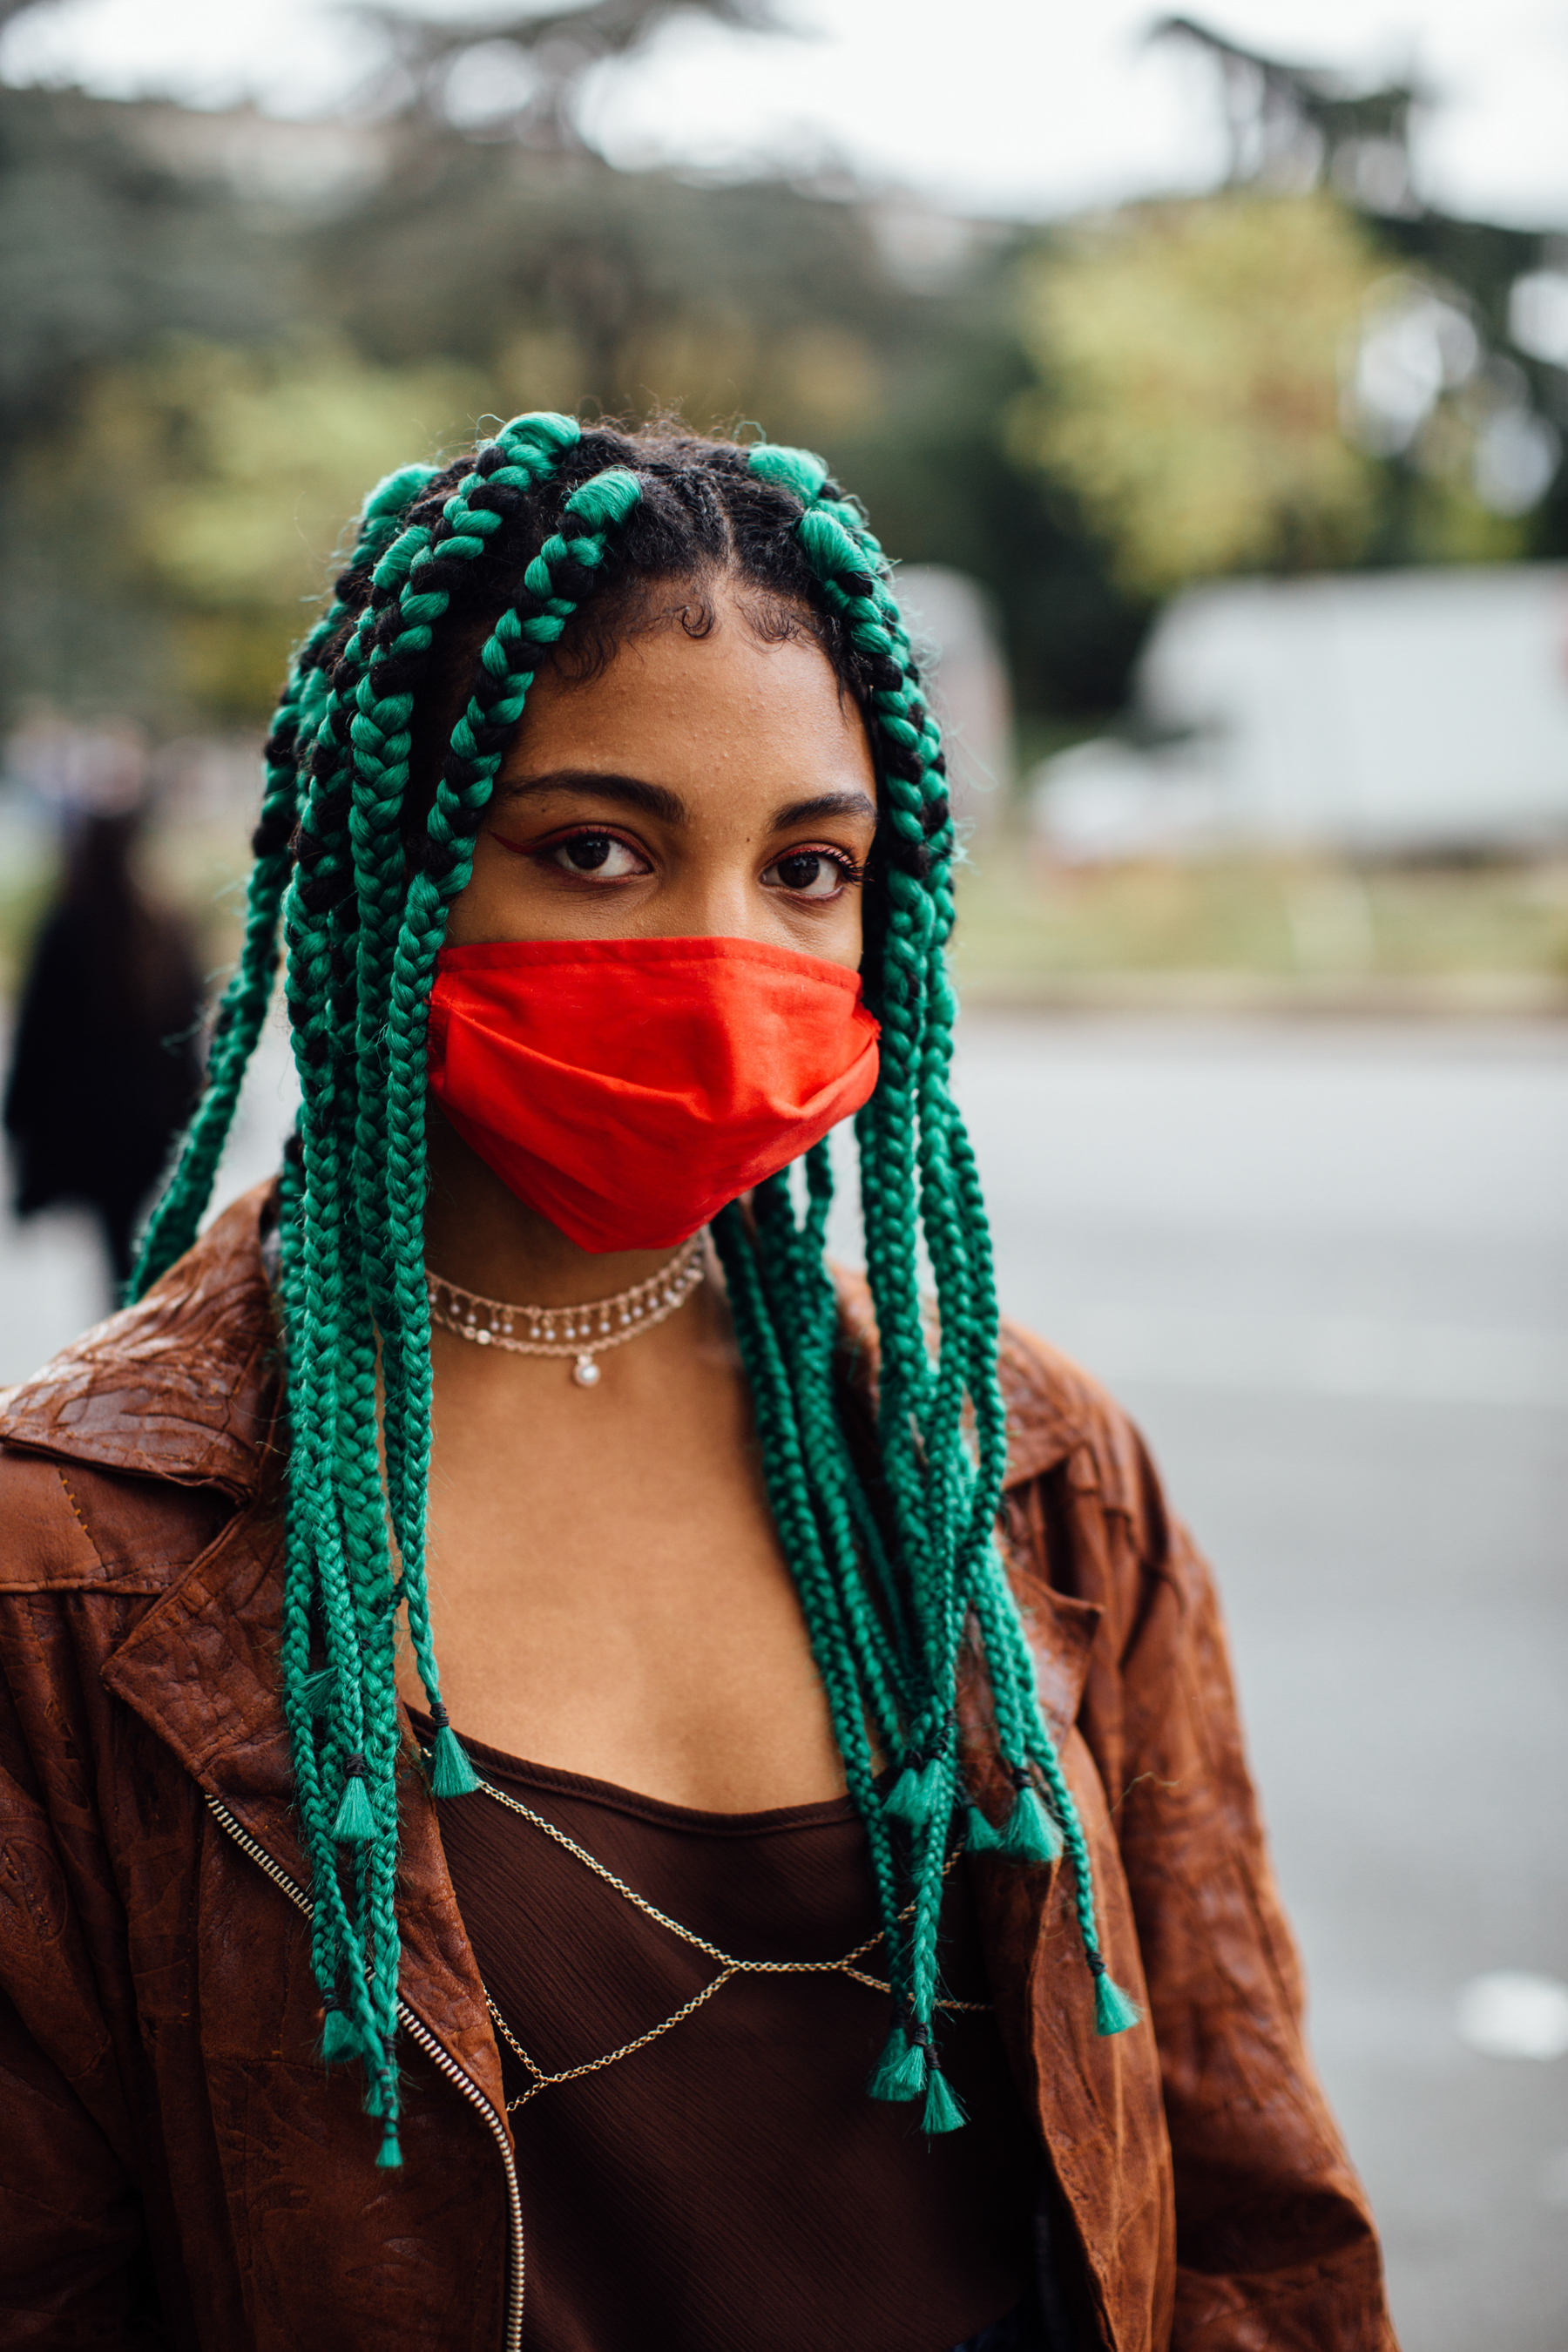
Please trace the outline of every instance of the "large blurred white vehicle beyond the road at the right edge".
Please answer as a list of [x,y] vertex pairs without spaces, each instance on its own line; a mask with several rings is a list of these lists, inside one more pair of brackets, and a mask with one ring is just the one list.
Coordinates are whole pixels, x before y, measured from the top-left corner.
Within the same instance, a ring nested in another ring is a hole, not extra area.
[[1128,727],[1037,771],[1046,854],[1563,856],[1568,564],[1187,588]]

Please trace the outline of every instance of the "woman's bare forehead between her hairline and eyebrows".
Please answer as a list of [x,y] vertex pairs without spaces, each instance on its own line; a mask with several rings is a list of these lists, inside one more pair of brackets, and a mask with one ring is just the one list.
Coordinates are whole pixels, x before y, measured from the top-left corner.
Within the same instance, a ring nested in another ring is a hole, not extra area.
[[764,640],[724,597],[686,635],[670,614],[628,635],[592,677],[543,670],[501,764],[508,781],[557,769],[616,769],[682,797],[788,781],[875,795],[858,706],[806,637]]

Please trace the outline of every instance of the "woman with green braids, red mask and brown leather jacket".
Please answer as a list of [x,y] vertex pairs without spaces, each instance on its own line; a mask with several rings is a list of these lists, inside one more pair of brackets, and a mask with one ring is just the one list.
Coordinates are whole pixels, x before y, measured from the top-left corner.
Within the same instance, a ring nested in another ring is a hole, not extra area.
[[860,510],[522,416],[266,757],[141,1305],[0,1421],[28,2340],[1389,2345],[1208,1578],[997,1334]]

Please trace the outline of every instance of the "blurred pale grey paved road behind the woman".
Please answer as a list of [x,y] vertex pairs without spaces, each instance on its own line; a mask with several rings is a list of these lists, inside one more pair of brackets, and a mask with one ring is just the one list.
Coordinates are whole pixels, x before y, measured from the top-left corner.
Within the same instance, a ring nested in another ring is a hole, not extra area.
[[[1406,2352],[1566,2352],[1568,1035],[971,1018],[1009,1308],[1143,1421],[1229,1602],[1314,2042]],[[273,1051],[226,1185],[266,1164]],[[0,1230],[0,1378],[96,1312]]]

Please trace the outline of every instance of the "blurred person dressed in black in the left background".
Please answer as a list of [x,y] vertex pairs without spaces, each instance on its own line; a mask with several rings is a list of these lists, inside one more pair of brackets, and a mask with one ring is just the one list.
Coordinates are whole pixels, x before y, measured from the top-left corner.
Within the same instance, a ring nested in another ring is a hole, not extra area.
[[195,1101],[202,993],[186,924],[136,877],[143,802],[113,797],[68,823],[21,988],[5,1131],[16,1216],[92,1209],[118,1303],[136,1218]]

